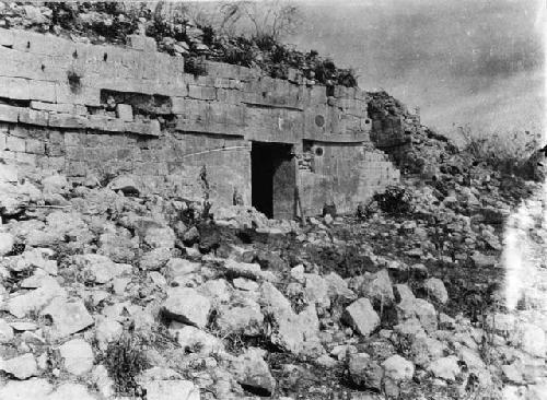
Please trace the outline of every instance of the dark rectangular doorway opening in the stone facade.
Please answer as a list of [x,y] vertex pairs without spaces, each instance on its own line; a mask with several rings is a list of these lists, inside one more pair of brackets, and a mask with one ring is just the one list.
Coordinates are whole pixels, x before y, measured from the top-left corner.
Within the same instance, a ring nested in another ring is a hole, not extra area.
[[296,186],[292,145],[253,142],[251,168],[253,207],[270,219],[292,219]]

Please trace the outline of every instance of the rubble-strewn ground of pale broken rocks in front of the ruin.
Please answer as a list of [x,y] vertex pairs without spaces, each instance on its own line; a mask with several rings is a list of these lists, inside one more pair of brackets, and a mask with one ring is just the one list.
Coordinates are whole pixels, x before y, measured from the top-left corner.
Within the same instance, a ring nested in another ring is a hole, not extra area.
[[544,399],[545,188],[451,160],[304,225],[0,165],[0,399]]

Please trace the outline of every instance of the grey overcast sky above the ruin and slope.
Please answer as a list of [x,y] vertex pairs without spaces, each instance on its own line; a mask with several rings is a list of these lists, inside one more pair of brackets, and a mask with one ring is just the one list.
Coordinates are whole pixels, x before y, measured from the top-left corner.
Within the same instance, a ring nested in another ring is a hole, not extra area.
[[[545,0],[543,0],[545,1]],[[540,0],[302,0],[288,42],[358,71],[421,108],[422,121],[502,131],[542,129]]]

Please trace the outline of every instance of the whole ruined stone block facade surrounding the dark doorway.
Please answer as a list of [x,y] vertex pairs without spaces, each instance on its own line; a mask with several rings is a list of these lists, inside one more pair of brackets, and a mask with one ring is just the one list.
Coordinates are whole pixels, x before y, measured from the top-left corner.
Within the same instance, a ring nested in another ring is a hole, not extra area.
[[357,87],[210,61],[193,75],[139,35],[124,48],[0,30],[0,154],[21,177],[130,175],[150,192],[276,219],[353,212],[399,178]]

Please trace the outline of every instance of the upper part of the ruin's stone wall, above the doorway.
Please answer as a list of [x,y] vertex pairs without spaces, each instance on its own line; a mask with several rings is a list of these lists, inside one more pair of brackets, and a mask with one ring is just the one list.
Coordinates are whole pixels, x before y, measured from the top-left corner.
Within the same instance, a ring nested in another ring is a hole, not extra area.
[[[153,46],[142,45],[148,42],[132,37],[131,43],[137,49],[128,49],[0,30],[0,56],[4,60],[0,63],[0,97],[50,104],[44,110],[56,110],[59,116],[22,109],[16,113],[21,115],[21,122],[59,128],[154,133],[147,127],[148,122],[127,123],[104,116],[84,120],[83,106],[101,107],[101,91],[107,89],[170,96],[172,113],[178,116],[177,128],[186,131],[240,134],[241,127],[247,126],[248,131],[254,132],[265,130],[264,125],[268,122],[269,130],[281,127],[277,140],[283,134],[298,138],[302,134],[356,134],[370,130],[366,94],[359,89],[335,86],[333,96],[327,97],[325,86],[306,87],[265,77],[257,70],[214,62],[207,62],[208,75],[193,77],[183,72],[181,58],[151,51]],[[199,106],[195,105],[196,101],[200,101]],[[237,108],[247,106],[261,107],[259,111],[251,111],[258,114],[254,126],[244,121],[245,111]],[[198,111],[193,114],[196,108]],[[300,119],[317,117],[323,122],[291,123],[291,127],[296,127],[296,132],[287,133],[284,121],[294,118],[287,118],[283,109],[300,113],[305,109],[305,117]],[[0,115],[9,114],[5,120],[13,121],[14,113],[4,109]],[[303,133],[302,125],[305,125]],[[150,128],[156,127],[151,122]]]

